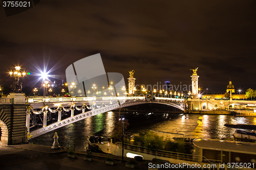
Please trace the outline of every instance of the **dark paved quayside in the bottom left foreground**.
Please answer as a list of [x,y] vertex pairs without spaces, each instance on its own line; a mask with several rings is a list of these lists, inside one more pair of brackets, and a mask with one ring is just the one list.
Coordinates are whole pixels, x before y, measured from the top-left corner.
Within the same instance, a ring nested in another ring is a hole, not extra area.
[[[125,167],[125,163],[121,162],[120,157],[112,156],[115,159],[115,165],[106,165],[106,154],[93,153],[94,160],[92,162],[83,160],[83,152],[77,152],[77,158],[67,157],[65,150],[51,150],[51,147],[44,147],[32,144],[20,144],[0,146],[0,169],[16,170],[16,169],[131,169]],[[136,166],[136,169],[148,169],[146,161]]]

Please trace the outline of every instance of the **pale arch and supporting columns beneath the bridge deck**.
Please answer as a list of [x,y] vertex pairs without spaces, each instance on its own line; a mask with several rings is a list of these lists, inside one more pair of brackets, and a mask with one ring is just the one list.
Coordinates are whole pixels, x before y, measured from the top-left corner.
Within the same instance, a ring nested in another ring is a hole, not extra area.
[[[55,129],[58,129],[58,128],[61,128],[63,126],[72,124],[72,123],[77,122],[79,120],[82,120],[84,118],[94,116],[94,115],[97,115],[97,114],[100,114],[100,113],[108,112],[108,111],[111,111],[111,110],[115,110],[115,109],[118,109],[118,108],[125,108],[125,107],[131,107],[131,106],[142,106],[142,105],[153,105],[153,104],[162,105],[162,106],[169,106],[169,107],[174,108],[174,110],[179,110],[179,111],[182,111],[182,112],[184,111],[184,108],[185,108],[185,101],[184,100],[174,101],[174,100],[166,100],[166,99],[163,99],[163,98],[161,98],[161,100],[157,99],[155,101],[145,101],[145,100],[135,100],[135,101],[132,100],[131,101],[130,100],[130,101],[125,101],[125,102],[121,102],[121,103],[116,102],[116,103],[112,103],[112,104],[109,104],[109,105],[94,105],[94,107],[93,106],[92,107],[87,107],[87,106],[83,105],[80,108],[78,108],[75,104],[73,104],[73,105],[71,105],[70,109],[63,108],[66,111],[71,110],[71,116],[70,117],[68,117],[66,119],[63,119],[63,120],[61,120],[59,118],[57,122],[55,122],[53,124],[50,124],[50,125],[47,125],[47,120],[46,120],[47,112],[48,112],[48,110],[54,112],[54,110],[49,108],[49,106],[46,106],[46,107],[42,108],[41,111],[39,111],[40,113],[46,115],[46,116],[44,115],[43,127],[30,132],[30,134],[28,134],[28,138],[34,138],[34,137],[40,136],[42,134],[45,134],[47,132],[53,131]],[[86,107],[91,109],[91,110],[85,111]],[[74,110],[75,109],[82,110],[82,113],[74,115]],[[29,129],[29,122],[28,121],[30,119],[29,115],[31,114],[32,110],[33,109],[31,107],[28,108],[28,110],[27,110],[27,124],[26,124],[26,126],[27,126],[28,129]],[[55,112],[57,112],[57,111],[59,113],[61,113],[61,109],[59,109],[59,108],[55,109]],[[73,111],[73,115],[72,115],[72,111]],[[32,111],[32,112],[34,112],[34,111]]]

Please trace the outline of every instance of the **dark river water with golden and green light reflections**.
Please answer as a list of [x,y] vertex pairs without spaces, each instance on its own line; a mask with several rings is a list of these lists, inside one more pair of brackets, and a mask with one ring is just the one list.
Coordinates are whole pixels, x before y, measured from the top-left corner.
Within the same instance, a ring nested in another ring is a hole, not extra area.
[[[168,134],[168,137],[232,138],[235,129],[227,128],[224,124],[256,125],[256,117],[232,115],[121,112],[120,117],[129,121],[127,132],[135,134],[140,130],[153,130],[178,133]],[[88,117],[37,138],[53,142],[54,133],[57,132],[59,143],[75,143],[77,150],[85,150],[88,136],[110,138],[117,121],[119,112],[110,111]]]

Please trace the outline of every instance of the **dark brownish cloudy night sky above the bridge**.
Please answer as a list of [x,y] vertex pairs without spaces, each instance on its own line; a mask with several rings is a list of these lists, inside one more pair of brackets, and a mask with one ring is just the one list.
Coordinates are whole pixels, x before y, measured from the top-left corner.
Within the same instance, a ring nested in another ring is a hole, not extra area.
[[126,79],[134,69],[136,84],[191,84],[199,67],[208,93],[225,92],[229,79],[256,89],[255,9],[255,0],[44,0],[7,17],[1,6],[0,86],[17,64],[32,73],[25,85],[36,86],[44,65],[60,83],[67,66],[100,53],[106,72]]

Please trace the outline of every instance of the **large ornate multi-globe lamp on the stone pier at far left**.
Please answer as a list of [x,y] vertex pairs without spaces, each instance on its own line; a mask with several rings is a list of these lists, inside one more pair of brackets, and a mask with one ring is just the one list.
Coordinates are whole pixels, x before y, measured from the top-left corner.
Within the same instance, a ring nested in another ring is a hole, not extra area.
[[19,78],[22,78],[26,75],[26,72],[20,71],[20,66],[15,66],[15,71],[9,72],[11,77],[15,78],[15,81],[12,85],[12,92],[14,93],[21,93],[22,92],[22,82],[19,83]]

